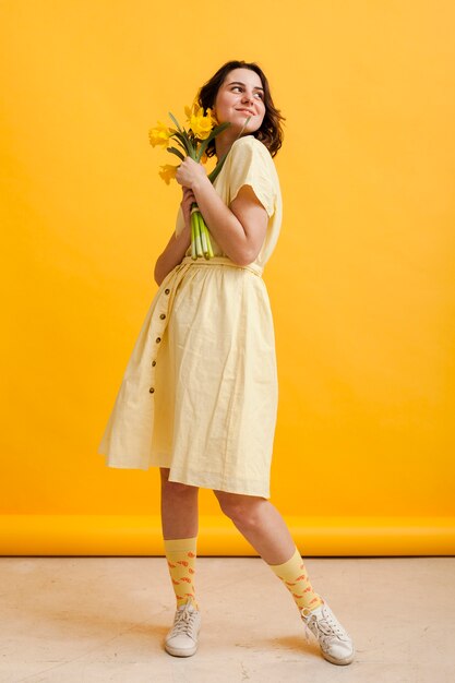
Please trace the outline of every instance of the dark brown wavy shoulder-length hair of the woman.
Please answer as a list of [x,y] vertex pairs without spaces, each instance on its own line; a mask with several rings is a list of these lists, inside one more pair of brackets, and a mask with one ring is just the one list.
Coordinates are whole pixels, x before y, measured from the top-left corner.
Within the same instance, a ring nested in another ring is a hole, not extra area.
[[[228,73],[234,69],[250,69],[251,71],[254,71],[261,79],[262,87],[264,88],[265,116],[261,128],[259,128],[251,134],[254,135],[254,137],[260,140],[267,147],[271,156],[275,156],[283,144],[282,121],[285,121],[286,119],[280,115],[279,109],[275,107],[272,99],[268,81],[262,69],[255,62],[232,60],[223,64],[223,67],[218,69],[218,71],[212,76],[212,79],[204,83],[204,85],[199,91],[199,104],[201,107],[204,107],[204,110],[213,108],[220,86],[225,82]],[[213,156],[215,154],[214,140],[207,145],[206,154],[207,156]]]

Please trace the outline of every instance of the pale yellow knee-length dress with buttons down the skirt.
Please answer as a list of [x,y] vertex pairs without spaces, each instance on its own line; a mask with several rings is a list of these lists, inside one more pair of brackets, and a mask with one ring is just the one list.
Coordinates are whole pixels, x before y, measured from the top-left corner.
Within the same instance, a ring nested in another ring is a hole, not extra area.
[[[267,148],[234,143],[214,182],[226,205],[251,185],[268,214],[255,261],[190,256],[163,280],[98,447],[109,467],[169,467],[169,480],[268,499],[278,384],[262,272],[278,239],[282,194]],[[183,227],[179,209],[176,233]]]

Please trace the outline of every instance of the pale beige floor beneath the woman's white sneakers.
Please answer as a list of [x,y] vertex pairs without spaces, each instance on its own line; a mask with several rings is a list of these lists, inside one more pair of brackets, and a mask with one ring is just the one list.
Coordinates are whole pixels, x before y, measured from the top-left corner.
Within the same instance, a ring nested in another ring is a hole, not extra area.
[[455,559],[304,558],[356,660],[325,661],[260,558],[199,558],[193,657],[163,649],[164,558],[0,558],[1,683],[453,683]]

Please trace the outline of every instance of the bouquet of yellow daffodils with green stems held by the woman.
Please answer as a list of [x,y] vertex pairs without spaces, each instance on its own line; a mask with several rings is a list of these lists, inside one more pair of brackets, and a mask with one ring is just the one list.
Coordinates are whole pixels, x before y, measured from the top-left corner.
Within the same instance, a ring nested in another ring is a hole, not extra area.
[[[156,145],[167,147],[168,152],[178,156],[182,161],[184,155],[187,155],[194,159],[194,161],[204,164],[207,160],[205,149],[208,143],[214,140],[218,133],[230,125],[230,123],[221,123],[218,125],[212,109],[206,109],[204,112],[203,107],[201,107],[196,100],[193,103],[192,107],[185,107],[184,111],[187,115],[188,130],[180,127],[176,117],[169,112],[169,117],[176,124],[176,128],[168,128],[165,123],[158,121],[158,125],[148,131],[149,143],[153,147]],[[175,146],[168,146],[171,144],[170,141],[179,145],[180,149]],[[213,171],[208,173],[211,182],[215,180],[221,170],[226,156],[227,153],[219,159]],[[166,164],[160,167],[159,176],[167,184],[176,177],[177,168],[178,166],[172,166],[171,164]],[[213,249],[208,228],[197,208],[197,204],[193,202],[191,205],[191,257],[195,260],[200,256],[211,259],[213,256]]]

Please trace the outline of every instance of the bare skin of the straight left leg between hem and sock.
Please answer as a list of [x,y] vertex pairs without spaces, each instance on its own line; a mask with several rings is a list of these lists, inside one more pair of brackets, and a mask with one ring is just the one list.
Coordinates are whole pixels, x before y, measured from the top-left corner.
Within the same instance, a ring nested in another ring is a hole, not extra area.
[[194,538],[199,531],[199,487],[169,481],[169,468],[160,467],[163,538]]

